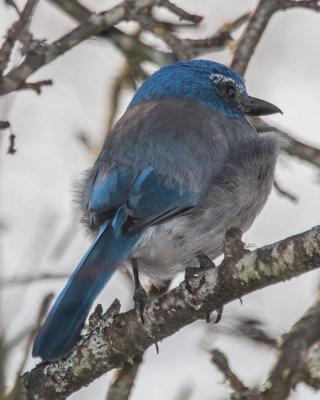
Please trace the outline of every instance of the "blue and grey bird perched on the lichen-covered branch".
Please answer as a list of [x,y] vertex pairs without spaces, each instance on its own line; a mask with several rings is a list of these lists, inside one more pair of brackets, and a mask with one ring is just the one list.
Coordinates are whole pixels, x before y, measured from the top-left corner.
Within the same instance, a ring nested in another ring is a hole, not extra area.
[[122,265],[156,285],[246,231],[274,181],[283,139],[248,116],[282,113],[251,97],[240,75],[209,60],[160,68],[136,91],[78,193],[93,243],[51,308],[33,356],[67,356],[93,302]]

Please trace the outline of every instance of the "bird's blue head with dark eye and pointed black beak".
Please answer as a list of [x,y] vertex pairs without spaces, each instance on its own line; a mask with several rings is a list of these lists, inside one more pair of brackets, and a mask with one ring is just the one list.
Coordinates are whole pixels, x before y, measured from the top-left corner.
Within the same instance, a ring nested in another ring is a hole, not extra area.
[[160,68],[140,86],[128,108],[154,99],[194,101],[239,119],[281,113],[273,104],[248,96],[237,72],[208,60],[182,61]]

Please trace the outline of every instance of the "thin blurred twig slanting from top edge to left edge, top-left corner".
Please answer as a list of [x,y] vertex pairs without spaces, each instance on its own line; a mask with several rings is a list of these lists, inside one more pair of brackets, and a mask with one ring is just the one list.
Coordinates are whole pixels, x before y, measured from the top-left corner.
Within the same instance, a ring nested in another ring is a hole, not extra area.
[[4,41],[0,49],[0,76],[7,68],[12,49],[16,41],[21,40],[22,43],[24,42],[23,36],[27,32],[38,1],[39,0],[28,0],[22,13],[20,14],[19,20],[15,22],[13,26],[8,30],[6,40]]

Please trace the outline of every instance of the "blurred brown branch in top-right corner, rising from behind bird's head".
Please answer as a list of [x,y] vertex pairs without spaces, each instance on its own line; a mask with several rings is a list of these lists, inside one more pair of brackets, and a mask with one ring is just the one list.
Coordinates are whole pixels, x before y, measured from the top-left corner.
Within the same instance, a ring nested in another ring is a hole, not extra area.
[[260,0],[236,46],[231,68],[240,75],[244,75],[251,56],[273,14],[279,10],[293,7],[305,7],[320,11],[317,0]]

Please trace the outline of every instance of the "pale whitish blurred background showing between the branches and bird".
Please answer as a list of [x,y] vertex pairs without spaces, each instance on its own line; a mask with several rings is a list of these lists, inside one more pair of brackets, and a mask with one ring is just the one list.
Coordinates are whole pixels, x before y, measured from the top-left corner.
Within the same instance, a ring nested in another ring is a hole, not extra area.
[[[24,2],[17,1],[22,7]],[[93,11],[116,1],[82,1]],[[255,1],[175,0],[175,4],[204,17],[193,29],[181,28],[180,37],[204,38],[225,22],[252,10]],[[170,17],[166,10],[160,10]],[[0,35],[17,16],[12,7],[0,3]],[[67,33],[75,22],[48,1],[40,1],[31,25],[36,38],[53,41]],[[119,28],[134,31],[134,23]],[[241,29],[235,32],[238,37]],[[151,34],[146,43],[166,46]],[[305,9],[278,12],[270,21],[245,75],[248,93],[276,104],[284,115],[265,117],[304,143],[320,148],[320,15]],[[230,49],[201,58],[228,64]],[[13,57],[12,65],[18,60]],[[158,66],[144,63],[151,73]],[[125,67],[125,59],[106,40],[91,39],[33,74],[32,80],[52,79],[42,94],[20,91],[0,98],[0,120],[9,120],[16,135],[14,155],[7,154],[8,131],[0,131],[0,329],[12,350],[5,364],[10,382],[21,365],[29,329],[34,326],[43,298],[57,295],[67,278],[33,279],[12,284],[12,279],[44,273],[71,274],[90,241],[78,223],[72,204],[75,182],[89,168],[106,137],[112,109],[114,84]],[[116,118],[125,111],[134,90],[121,91]],[[276,179],[297,201],[272,192],[269,201],[244,235],[250,248],[272,243],[310,229],[320,222],[319,169],[282,154]],[[177,277],[176,283],[183,279]],[[11,284],[9,284],[11,282]],[[284,334],[300,318],[319,285],[319,272],[311,272],[235,301],[225,307],[222,321],[212,326],[196,322],[173,337],[148,349],[135,382],[132,400],[225,399],[223,377],[210,361],[209,350],[218,348],[231,368],[248,386],[259,384],[270,369],[275,351],[235,332],[241,318],[259,319],[273,337]],[[117,297],[122,311],[132,307],[133,287],[117,272],[98,302],[106,309]],[[24,370],[39,360],[28,355]],[[106,398],[110,372],[89,387],[73,394],[72,400]],[[319,394],[300,384],[293,400],[318,399]]]

